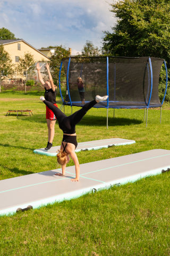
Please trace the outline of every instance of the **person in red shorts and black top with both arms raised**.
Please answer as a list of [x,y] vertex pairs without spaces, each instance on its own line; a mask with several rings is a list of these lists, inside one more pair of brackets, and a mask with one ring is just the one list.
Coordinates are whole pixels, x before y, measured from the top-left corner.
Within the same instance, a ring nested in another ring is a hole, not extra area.
[[[44,97],[47,101],[53,103],[53,105],[55,105],[57,107],[56,88],[53,83],[52,75],[50,74],[50,71],[49,71],[49,63],[46,64],[49,81],[44,82],[43,77],[41,76],[41,72],[40,72],[41,67],[42,66],[39,66],[39,63],[37,63],[38,78],[39,78],[41,85],[43,85],[43,87],[45,89]],[[53,111],[50,110],[47,106],[46,106],[46,120],[47,120],[47,127],[48,127],[48,143],[47,143],[47,147],[45,149],[48,150],[53,146],[52,142],[53,142],[54,133],[55,133],[54,127],[55,127],[55,123],[56,123],[56,117],[55,117]]]

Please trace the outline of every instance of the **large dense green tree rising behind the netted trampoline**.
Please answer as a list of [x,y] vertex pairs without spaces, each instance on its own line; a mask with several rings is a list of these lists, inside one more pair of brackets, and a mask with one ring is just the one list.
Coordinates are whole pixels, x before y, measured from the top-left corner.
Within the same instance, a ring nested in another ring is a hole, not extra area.
[[104,32],[104,51],[126,57],[158,57],[170,63],[169,1],[122,0],[111,6],[117,23],[113,33]]

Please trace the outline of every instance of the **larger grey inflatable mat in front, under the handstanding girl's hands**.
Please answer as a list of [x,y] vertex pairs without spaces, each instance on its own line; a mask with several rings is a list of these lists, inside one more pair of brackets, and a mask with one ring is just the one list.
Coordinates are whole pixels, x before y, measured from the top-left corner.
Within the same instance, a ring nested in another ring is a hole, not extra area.
[[0,181],[0,215],[15,213],[28,205],[37,208],[48,203],[79,197],[91,191],[120,186],[140,178],[166,172],[170,150],[154,149],[80,165],[80,181],[72,182],[75,166],[66,168],[66,176],[55,175],[61,169],[28,174]]

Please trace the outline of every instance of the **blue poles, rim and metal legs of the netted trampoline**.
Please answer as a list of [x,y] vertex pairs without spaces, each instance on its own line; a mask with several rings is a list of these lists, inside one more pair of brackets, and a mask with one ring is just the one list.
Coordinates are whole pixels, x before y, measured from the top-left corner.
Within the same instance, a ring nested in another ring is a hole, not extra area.
[[[69,62],[68,62],[68,65],[67,65],[67,74],[66,74],[66,86],[67,86],[66,94],[68,95],[70,102],[65,102],[64,101],[63,95],[62,95],[62,91],[61,91],[61,70],[62,70],[63,61],[61,61],[58,82],[59,82],[60,95],[61,95],[62,102],[63,102],[61,108],[64,105],[67,105],[67,106],[69,105],[69,106],[71,106],[71,113],[72,113],[72,106],[73,106],[73,104],[72,104],[72,100],[71,100],[71,97],[70,97],[70,91],[69,91],[69,68],[70,68],[70,61],[71,61],[71,57],[69,58]],[[106,86],[107,86],[108,99],[107,99],[107,106],[100,106],[100,107],[101,108],[107,108],[107,129],[108,129],[108,109],[109,109],[109,83],[108,83],[109,63],[108,63],[108,56],[106,57],[106,61],[107,61],[106,62],[107,63],[107,75],[106,75],[107,84],[106,84]],[[163,63],[164,63],[165,70],[166,70],[166,87],[165,87],[165,93],[164,93],[164,97],[163,97],[163,100],[161,102],[161,107],[160,107],[160,123],[161,123],[161,116],[162,116],[162,105],[163,105],[164,100],[165,100],[165,96],[166,96],[166,92],[167,92],[167,84],[168,84],[168,74],[167,74],[166,61],[164,60]],[[121,107],[121,108],[145,108],[145,116],[146,116],[146,109],[147,109],[146,127],[147,127],[147,121],[148,121],[148,108],[153,107],[153,106],[149,106],[149,103],[150,103],[150,100],[151,100],[151,95],[152,95],[152,82],[153,82],[152,63],[151,63],[150,57],[149,57],[149,67],[150,67],[150,73],[149,73],[149,70],[148,70],[148,74],[151,75],[151,77],[148,77],[148,81],[150,80],[150,95],[149,95],[148,103],[146,103],[146,107],[143,107],[143,106],[133,106],[133,107],[123,106],[123,107]],[[147,69],[149,69],[149,67],[147,66]],[[82,72],[82,70],[81,70],[81,72]],[[116,69],[115,69],[115,75],[116,75]],[[80,74],[80,77],[81,77],[81,74]],[[116,86],[116,81],[114,82],[114,86]],[[115,93],[115,90],[114,90],[114,93]],[[149,90],[148,90],[148,93],[149,93]],[[116,97],[116,95],[114,94],[114,99],[115,99],[115,97]],[[148,94],[147,94],[147,99],[148,99]],[[99,108],[99,107],[96,107],[96,108]],[[120,108],[120,107],[114,107],[114,110],[115,110],[115,108]],[[114,115],[115,115],[115,113],[114,113]],[[145,117],[144,117],[144,119],[145,119]]]

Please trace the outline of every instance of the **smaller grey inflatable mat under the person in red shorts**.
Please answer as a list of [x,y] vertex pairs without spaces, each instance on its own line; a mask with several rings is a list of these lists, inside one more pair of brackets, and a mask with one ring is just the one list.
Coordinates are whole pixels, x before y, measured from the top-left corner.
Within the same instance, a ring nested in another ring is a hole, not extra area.
[[[123,146],[135,143],[134,140],[126,140],[120,138],[111,138],[105,140],[92,140],[86,142],[78,143],[77,149],[75,152],[86,151],[86,150],[97,150],[101,148],[109,148],[113,146]],[[44,148],[39,148],[33,150],[34,153],[46,156],[56,156],[57,149],[60,149],[60,146],[52,147],[49,150],[45,150]]]

